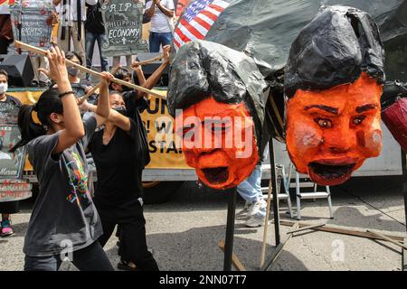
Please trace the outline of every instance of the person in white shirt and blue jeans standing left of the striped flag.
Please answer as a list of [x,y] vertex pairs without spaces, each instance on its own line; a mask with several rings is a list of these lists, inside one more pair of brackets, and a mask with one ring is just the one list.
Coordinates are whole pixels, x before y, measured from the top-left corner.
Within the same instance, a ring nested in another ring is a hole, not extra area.
[[151,17],[149,36],[150,52],[159,52],[161,46],[171,44],[173,40],[174,17],[173,0],[150,0],[146,4],[147,17]]

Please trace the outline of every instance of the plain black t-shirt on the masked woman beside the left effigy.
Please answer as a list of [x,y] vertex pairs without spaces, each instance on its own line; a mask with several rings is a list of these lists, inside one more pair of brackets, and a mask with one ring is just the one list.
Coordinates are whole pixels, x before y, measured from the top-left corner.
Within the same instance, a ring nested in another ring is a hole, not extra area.
[[117,128],[109,144],[103,144],[104,128],[95,132],[88,146],[98,172],[95,203],[120,206],[142,197],[143,172],[137,123],[130,118],[130,131]]

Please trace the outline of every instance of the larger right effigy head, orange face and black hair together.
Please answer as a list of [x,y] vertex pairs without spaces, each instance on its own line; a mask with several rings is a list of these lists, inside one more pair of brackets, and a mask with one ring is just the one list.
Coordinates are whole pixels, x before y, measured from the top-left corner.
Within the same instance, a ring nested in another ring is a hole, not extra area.
[[382,148],[383,44],[369,14],[328,6],[293,42],[285,69],[286,142],[313,182],[347,181]]

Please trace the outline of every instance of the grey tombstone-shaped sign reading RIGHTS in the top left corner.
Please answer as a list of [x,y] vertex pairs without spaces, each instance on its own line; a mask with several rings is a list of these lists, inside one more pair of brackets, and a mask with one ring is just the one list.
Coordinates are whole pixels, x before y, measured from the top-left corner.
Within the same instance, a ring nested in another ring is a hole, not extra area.
[[14,39],[41,49],[50,49],[52,6],[49,1],[19,1],[10,6]]

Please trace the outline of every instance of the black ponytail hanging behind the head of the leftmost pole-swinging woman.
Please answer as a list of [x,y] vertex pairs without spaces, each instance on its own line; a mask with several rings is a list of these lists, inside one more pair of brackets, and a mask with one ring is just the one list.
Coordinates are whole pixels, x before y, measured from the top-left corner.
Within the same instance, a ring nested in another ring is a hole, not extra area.
[[18,112],[18,127],[21,132],[21,140],[15,144],[10,153],[14,153],[19,147],[28,144],[34,138],[45,135],[46,131],[43,126],[33,122],[34,106],[24,105]]

